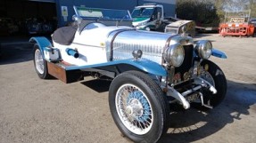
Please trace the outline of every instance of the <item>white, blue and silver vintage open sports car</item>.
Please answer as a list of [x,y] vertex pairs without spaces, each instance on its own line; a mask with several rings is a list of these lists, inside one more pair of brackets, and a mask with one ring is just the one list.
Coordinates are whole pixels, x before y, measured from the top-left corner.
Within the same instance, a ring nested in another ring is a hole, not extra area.
[[[31,37],[37,75],[65,83],[87,75],[111,79],[111,115],[128,139],[157,142],[168,130],[169,104],[216,107],[227,81],[209,58],[227,58],[211,41],[186,34],[141,31],[128,11],[74,6],[75,25],[58,28],[53,44]],[[186,31],[185,31],[186,32]],[[188,117],[189,118],[189,117]]]

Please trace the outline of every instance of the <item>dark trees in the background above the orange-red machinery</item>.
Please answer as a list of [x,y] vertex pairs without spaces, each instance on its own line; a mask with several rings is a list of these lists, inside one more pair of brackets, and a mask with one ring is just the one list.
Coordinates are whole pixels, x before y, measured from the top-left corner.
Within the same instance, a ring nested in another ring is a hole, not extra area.
[[219,26],[227,11],[251,10],[256,18],[256,0],[177,0],[179,19],[194,20],[202,26]]

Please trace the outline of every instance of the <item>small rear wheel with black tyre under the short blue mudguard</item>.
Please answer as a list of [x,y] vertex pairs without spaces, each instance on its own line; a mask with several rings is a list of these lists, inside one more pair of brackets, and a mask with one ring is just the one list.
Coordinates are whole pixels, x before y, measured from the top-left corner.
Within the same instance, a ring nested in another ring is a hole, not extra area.
[[[36,69],[37,75],[41,79],[49,79],[51,75],[48,73],[48,68],[45,59],[43,58],[43,52],[40,50],[39,46],[37,44],[34,45],[34,50],[33,50],[33,60],[34,60],[34,67]],[[41,54],[41,68],[38,67],[38,62],[37,62],[37,54]],[[42,63],[43,62],[43,63]]]

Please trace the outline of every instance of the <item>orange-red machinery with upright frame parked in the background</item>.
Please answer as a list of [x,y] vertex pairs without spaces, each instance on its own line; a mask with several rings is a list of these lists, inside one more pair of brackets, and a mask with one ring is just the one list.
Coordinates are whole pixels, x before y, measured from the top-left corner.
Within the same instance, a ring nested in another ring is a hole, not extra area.
[[254,25],[249,23],[251,11],[226,12],[225,22],[219,25],[221,36],[253,36]]

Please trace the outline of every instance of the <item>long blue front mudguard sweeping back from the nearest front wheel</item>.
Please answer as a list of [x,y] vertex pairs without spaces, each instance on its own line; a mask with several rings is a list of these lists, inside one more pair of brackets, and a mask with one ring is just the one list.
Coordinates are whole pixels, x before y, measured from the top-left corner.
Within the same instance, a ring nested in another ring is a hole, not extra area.
[[87,66],[70,66],[65,68],[65,70],[74,70],[74,69],[86,69],[86,68],[100,68],[100,67],[106,67],[106,66],[114,66],[119,64],[127,64],[131,65],[133,67],[139,68],[146,73],[153,74],[153,75],[161,75],[161,76],[167,76],[167,72],[165,68],[161,67],[156,62],[153,62],[151,60],[115,60],[110,62],[105,62],[101,64],[95,64],[95,65],[87,65]]

